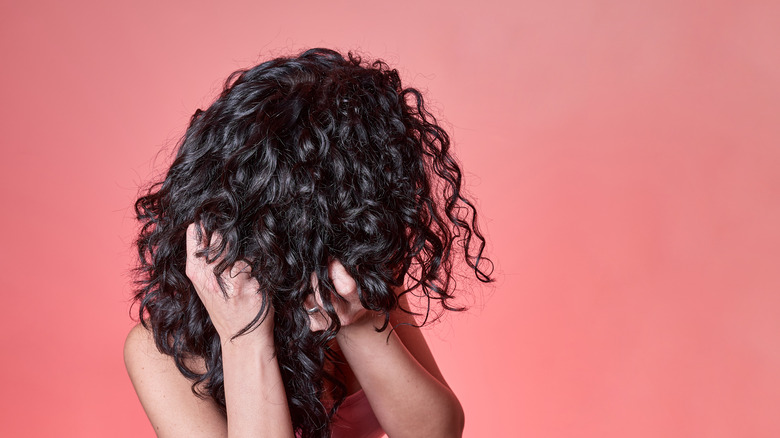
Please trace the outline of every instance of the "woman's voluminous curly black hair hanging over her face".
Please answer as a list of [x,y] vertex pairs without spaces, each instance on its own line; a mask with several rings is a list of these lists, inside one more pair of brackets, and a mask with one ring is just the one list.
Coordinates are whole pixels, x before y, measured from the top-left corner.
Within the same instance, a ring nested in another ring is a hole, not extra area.
[[[345,396],[325,371],[341,327],[329,262],[344,265],[360,302],[383,313],[385,327],[411,291],[427,311],[437,302],[460,309],[452,302],[455,247],[477,279],[491,281],[477,212],[449,148],[422,94],[403,88],[382,61],[312,49],[233,73],[217,100],[192,116],[165,178],[135,203],[139,319],[193,391],[224,409],[219,336],[185,274],[188,225],[200,224],[206,242],[217,233],[219,243],[204,251],[220,260],[215,274],[247,261],[273,305],[295,430],[329,436]],[[303,305],[312,273],[332,321],[324,332],[310,330]],[[205,372],[191,358],[202,358]],[[320,401],[326,379],[337,387],[331,409]]]

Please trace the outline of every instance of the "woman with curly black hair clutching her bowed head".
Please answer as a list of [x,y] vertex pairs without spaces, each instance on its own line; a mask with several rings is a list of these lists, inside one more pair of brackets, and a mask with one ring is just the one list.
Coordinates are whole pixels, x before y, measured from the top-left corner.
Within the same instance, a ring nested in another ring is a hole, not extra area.
[[457,254],[492,266],[448,149],[381,61],[231,75],[136,202],[125,362],[158,436],[460,436],[419,327],[460,310]]

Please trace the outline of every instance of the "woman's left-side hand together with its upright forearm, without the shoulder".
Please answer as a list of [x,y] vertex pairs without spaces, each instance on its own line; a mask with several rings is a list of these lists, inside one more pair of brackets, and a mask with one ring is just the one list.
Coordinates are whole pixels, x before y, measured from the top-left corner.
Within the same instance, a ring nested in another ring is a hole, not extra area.
[[[187,277],[211,317],[222,343],[222,370],[225,384],[227,437],[293,437],[290,410],[282,375],[274,353],[274,310],[271,303],[258,327],[233,340],[263,307],[260,285],[250,275],[250,267],[239,261],[220,277],[214,263],[195,254],[203,248],[197,225],[187,227]],[[219,243],[212,236],[212,244]],[[227,298],[225,298],[227,295]]]

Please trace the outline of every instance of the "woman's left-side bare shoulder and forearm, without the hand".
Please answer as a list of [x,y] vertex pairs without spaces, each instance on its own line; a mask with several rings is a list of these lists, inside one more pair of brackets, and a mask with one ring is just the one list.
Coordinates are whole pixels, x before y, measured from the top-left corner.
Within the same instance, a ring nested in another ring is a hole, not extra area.
[[250,345],[228,346],[222,357],[227,418],[213,400],[192,393],[192,382],[179,372],[170,356],[157,351],[149,331],[140,324],[130,331],[125,341],[125,366],[157,436],[291,437],[292,424],[276,359]]

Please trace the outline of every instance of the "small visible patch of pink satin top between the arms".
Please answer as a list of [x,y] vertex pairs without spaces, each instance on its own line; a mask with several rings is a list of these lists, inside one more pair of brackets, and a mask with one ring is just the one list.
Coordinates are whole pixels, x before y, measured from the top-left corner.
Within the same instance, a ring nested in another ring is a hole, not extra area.
[[332,438],[380,438],[385,435],[361,389],[347,396],[331,425]]

